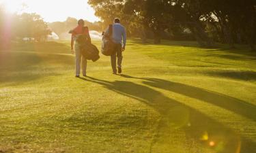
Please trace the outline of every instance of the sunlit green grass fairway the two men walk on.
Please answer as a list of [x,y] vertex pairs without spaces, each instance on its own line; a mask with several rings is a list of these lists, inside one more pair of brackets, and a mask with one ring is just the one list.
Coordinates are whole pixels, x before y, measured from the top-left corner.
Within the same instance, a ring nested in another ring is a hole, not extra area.
[[256,54],[247,48],[130,40],[124,75],[101,56],[79,79],[69,46],[0,51],[0,152],[256,152]]

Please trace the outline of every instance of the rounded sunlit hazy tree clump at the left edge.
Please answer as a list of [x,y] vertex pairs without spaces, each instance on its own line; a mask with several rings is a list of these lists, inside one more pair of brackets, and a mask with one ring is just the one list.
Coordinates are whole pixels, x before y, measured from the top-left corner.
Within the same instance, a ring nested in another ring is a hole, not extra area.
[[38,14],[7,14],[0,8],[0,41],[45,41],[51,35],[48,25]]

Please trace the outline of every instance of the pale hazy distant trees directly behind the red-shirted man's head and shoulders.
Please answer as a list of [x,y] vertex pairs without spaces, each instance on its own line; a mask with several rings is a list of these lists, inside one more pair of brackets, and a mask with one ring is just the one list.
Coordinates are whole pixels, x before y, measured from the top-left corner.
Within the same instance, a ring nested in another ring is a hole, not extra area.
[[[51,22],[48,23],[48,27],[59,35],[60,39],[70,38],[68,31],[74,29],[77,26],[78,20],[76,18],[68,17],[66,21],[63,22]],[[102,31],[102,22],[89,22],[85,20],[85,26],[89,27],[89,30]]]

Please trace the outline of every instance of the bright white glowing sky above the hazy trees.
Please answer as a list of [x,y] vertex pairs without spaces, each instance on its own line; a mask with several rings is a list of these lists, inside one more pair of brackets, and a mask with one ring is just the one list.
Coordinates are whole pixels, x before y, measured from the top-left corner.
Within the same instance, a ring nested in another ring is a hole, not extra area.
[[46,22],[64,21],[68,17],[83,18],[90,22],[100,20],[87,0],[0,0],[10,13],[37,13]]

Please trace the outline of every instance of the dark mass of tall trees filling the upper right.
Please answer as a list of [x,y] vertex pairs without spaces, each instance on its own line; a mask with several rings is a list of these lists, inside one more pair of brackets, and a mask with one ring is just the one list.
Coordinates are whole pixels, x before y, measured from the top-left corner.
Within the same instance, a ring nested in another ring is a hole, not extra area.
[[[255,50],[255,0],[89,0],[106,27],[121,18],[130,35],[196,39],[201,46],[214,42],[248,44]],[[152,35],[152,36],[151,36]]]

